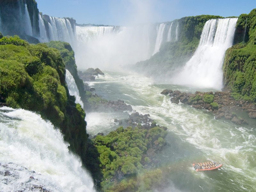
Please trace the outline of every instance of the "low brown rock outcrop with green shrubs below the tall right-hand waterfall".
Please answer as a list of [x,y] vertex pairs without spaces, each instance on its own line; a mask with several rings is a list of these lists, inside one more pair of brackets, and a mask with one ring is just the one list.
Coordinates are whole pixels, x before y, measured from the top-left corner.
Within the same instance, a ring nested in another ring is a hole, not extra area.
[[171,102],[178,104],[179,102],[191,105],[198,109],[207,109],[212,111],[216,119],[227,119],[231,122],[242,125],[248,122],[237,117],[235,110],[246,110],[250,118],[256,118],[256,106],[249,101],[235,100],[231,97],[230,92],[195,92],[181,93],[180,91],[164,90],[161,94],[168,94]]

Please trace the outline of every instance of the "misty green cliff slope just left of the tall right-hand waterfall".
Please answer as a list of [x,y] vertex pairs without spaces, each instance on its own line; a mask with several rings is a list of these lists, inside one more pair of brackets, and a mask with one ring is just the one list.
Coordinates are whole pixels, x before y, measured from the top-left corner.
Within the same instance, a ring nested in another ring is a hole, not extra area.
[[[214,15],[184,17],[173,22],[179,23],[178,41],[164,43],[160,51],[146,61],[136,63],[136,69],[148,76],[171,76],[191,58],[195,52],[207,20],[223,18]],[[175,34],[175,33],[172,33]]]

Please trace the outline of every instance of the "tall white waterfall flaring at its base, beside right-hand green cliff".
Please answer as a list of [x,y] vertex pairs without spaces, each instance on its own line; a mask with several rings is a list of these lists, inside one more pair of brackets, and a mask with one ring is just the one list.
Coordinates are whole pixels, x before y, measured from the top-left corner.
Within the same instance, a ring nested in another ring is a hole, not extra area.
[[236,21],[237,18],[208,20],[194,55],[172,81],[220,90],[225,51],[232,46]]

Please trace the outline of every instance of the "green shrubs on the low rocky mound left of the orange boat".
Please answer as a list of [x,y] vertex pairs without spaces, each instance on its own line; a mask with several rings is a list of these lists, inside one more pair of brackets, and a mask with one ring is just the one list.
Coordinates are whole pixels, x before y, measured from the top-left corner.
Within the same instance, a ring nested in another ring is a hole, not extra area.
[[[122,126],[107,136],[98,135],[92,141],[100,153],[101,182],[104,191],[147,191],[161,183],[161,170],[146,171],[152,162],[147,157],[149,148],[165,145],[167,134],[156,126],[149,130],[141,124],[132,129]],[[118,176],[119,175],[119,176]],[[122,175],[121,180],[120,175]]]

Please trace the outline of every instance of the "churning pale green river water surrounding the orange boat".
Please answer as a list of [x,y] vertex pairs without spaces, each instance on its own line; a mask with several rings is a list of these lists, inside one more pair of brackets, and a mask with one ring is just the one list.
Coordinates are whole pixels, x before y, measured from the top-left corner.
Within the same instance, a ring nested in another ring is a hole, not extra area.
[[[166,191],[255,191],[256,141],[255,120],[239,126],[228,120],[216,120],[207,110],[173,104],[164,89],[181,92],[219,91],[172,84],[154,84],[139,74],[104,71],[89,82],[96,93],[108,100],[124,100],[141,114],[150,114],[157,124],[168,129],[167,145],[157,156],[159,168],[169,181]],[[238,116],[244,113],[235,111]],[[114,119],[127,113],[94,112],[86,114],[87,132],[97,134],[116,130]],[[214,171],[196,172],[193,162],[212,161],[223,166]],[[157,191],[157,189],[156,189]]]

